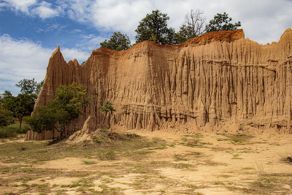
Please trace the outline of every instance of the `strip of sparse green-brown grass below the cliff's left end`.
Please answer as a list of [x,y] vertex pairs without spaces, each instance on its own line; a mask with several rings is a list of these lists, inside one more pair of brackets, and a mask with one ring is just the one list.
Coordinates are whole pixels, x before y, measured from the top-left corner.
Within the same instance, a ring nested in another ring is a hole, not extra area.
[[[102,143],[92,141],[68,143],[66,138],[52,145],[48,145],[48,141],[6,142],[1,144],[0,156],[3,163],[25,164],[39,164],[66,157],[91,158],[93,154],[105,156],[109,151],[114,151],[116,157],[134,155],[142,158],[150,153],[149,150],[165,149],[165,143],[166,141],[161,139],[149,140],[141,137]],[[20,150],[21,148],[26,150]]]

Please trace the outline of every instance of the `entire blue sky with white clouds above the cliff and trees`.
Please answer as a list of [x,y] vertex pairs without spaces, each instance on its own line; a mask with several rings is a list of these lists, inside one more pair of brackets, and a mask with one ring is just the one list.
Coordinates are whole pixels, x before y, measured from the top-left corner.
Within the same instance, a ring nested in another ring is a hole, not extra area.
[[260,44],[279,41],[292,28],[291,0],[0,0],[0,93],[20,93],[21,79],[44,79],[48,60],[60,46],[68,62],[86,61],[112,32],[127,34],[135,42],[139,21],[159,9],[170,17],[168,26],[179,30],[190,9],[204,10],[208,23],[227,12],[241,21],[245,38]]

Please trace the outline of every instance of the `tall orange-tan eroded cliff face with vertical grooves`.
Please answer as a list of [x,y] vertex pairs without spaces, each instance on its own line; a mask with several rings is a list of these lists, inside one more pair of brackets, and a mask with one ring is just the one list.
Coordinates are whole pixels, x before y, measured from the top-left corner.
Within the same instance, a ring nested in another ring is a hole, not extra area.
[[[252,127],[291,131],[292,30],[279,42],[260,45],[244,32],[203,34],[167,46],[144,41],[125,51],[93,50],[83,64],[66,63],[60,48],[52,54],[35,106],[53,99],[62,84],[87,87],[94,97],[67,134],[82,129],[89,115],[96,126],[149,131],[192,122],[221,128],[234,121]],[[112,101],[105,116],[99,106]],[[58,132],[27,133],[27,140],[51,139]]]

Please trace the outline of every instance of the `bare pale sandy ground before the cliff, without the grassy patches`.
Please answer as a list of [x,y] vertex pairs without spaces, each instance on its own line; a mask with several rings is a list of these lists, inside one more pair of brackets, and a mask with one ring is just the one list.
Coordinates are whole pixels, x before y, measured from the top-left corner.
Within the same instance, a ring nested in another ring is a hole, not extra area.
[[[292,135],[289,134],[254,135],[249,137],[246,142],[234,144],[228,140],[228,135],[201,133],[195,135],[198,136],[195,138],[199,139],[202,144],[190,147],[184,143],[192,141],[194,138],[191,137],[192,134],[183,136],[179,133],[159,131],[135,131],[135,133],[150,139],[164,139],[166,147],[152,150],[153,152],[149,153],[147,158],[138,161],[127,157],[113,161],[100,161],[94,157],[90,161],[94,161],[95,164],[86,165],[84,158],[75,157],[46,161],[35,167],[62,169],[68,172],[91,171],[93,175],[86,177],[95,178],[91,181],[91,189],[92,191],[94,189],[95,193],[100,191],[100,194],[103,194],[102,188],[104,187],[102,186],[119,189],[117,194],[263,194],[262,192],[234,189],[234,185],[244,188],[261,177],[276,177],[274,175],[292,173],[292,164],[283,161],[283,158],[291,155],[292,151]],[[154,172],[147,172],[147,165],[151,163],[155,165]],[[142,167],[142,164],[145,164],[146,171],[142,173],[125,172],[128,164],[135,165],[135,167]],[[1,165],[7,166],[5,163],[1,163]],[[94,177],[95,171],[104,174],[97,174],[98,176]],[[92,192],[87,189],[87,191],[80,192],[77,187],[65,189],[60,187],[60,185],[76,183],[80,178],[57,176],[51,179],[51,177],[44,177],[31,180],[27,184],[39,184],[45,180],[48,186],[62,189],[59,192],[52,190],[51,194],[91,194]],[[291,177],[288,181],[290,180]],[[292,184],[292,181],[290,183]],[[292,194],[290,183],[281,183],[280,191],[269,193]],[[0,185],[0,190],[1,188],[3,185]],[[17,188],[11,187],[11,190],[18,194]],[[22,194],[28,195],[28,193]]]

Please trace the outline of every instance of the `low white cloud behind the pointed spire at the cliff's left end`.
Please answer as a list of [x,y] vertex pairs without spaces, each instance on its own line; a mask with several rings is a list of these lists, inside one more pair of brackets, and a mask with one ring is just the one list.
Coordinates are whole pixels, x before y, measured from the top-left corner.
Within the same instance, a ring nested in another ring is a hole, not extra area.
[[[17,95],[20,90],[14,85],[27,78],[35,78],[38,82],[44,79],[49,58],[56,48],[44,48],[29,40],[13,39],[8,34],[0,36],[0,93],[10,90]],[[73,48],[61,48],[68,62],[76,58],[79,62],[86,61],[87,52]],[[3,83],[3,84],[2,84]]]

